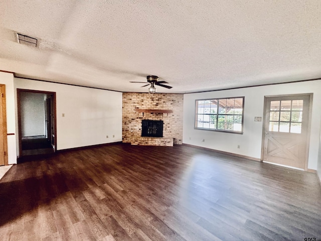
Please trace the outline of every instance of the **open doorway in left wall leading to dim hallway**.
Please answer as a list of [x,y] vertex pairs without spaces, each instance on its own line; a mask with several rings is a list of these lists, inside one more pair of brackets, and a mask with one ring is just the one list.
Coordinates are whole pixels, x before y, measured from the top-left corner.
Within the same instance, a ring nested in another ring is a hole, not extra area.
[[56,93],[17,89],[19,156],[56,152]]

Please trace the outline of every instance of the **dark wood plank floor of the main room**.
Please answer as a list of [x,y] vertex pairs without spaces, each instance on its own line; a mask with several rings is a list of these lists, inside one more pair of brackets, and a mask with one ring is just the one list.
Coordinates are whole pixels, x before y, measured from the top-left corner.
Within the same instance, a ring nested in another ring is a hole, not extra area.
[[117,144],[13,166],[1,240],[321,239],[316,174],[185,145]]

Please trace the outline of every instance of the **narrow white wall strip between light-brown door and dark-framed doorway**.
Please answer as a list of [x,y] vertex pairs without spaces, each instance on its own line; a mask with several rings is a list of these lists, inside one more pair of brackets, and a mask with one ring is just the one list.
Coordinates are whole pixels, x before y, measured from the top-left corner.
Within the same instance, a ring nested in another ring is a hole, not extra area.
[[0,72],[0,84],[6,85],[6,108],[7,108],[7,133],[15,134],[7,136],[8,140],[8,163],[17,163],[16,156],[16,114],[15,114],[15,91],[14,75]]

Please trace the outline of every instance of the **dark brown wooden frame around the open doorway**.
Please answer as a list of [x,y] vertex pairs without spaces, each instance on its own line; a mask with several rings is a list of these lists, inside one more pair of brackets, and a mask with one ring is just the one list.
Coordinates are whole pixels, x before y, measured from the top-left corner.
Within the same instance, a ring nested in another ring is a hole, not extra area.
[[51,91],[42,91],[42,90],[32,90],[32,89],[17,89],[17,105],[18,105],[18,139],[19,139],[19,158],[22,157],[22,127],[21,127],[21,92],[31,92],[31,93],[42,93],[42,94],[51,94],[53,96],[53,110],[54,110],[54,135],[55,135],[55,148],[54,151],[57,151],[57,111],[56,111],[56,92]]

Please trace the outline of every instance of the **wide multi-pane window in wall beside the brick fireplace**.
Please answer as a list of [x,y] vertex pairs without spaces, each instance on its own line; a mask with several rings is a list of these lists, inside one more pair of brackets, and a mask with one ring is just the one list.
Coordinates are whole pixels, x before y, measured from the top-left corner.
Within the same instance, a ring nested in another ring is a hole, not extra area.
[[196,100],[195,128],[243,133],[244,97]]

